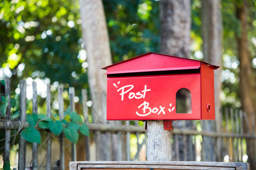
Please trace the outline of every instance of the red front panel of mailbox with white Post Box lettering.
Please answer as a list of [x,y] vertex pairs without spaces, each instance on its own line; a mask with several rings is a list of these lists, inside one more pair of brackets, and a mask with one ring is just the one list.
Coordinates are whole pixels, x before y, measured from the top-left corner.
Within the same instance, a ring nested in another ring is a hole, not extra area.
[[[108,77],[107,120],[200,120],[200,74]],[[192,113],[176,113],[176,92],[187,88]]]

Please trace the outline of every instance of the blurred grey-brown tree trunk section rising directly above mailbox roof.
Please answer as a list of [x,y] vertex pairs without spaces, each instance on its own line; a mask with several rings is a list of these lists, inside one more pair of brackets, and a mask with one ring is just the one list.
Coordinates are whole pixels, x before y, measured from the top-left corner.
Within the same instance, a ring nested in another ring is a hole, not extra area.
[[161,0],[161,53],[190,57],[190,1]]

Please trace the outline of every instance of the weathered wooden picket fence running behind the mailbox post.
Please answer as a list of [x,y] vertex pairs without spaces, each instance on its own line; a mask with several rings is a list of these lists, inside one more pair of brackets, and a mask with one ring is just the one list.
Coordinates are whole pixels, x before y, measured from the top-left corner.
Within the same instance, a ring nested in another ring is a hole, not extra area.
[[[10,97],[10,78],[5,78],[5,95]],[[74,105],[74,87],[69,87],[69,106],[70,110],[75,110]],[[10,99],[10,98],[9,98]],[[36,82],[33,82],[33,113],[38,113],[37,107],[37,91]],[[46,96],[46,115],[51,117],[51,86],[47,85]],[[63,87],[58,87],[58,104],[59,104],[59,119],[64,119],[64,98]],[[8,162],[10,158],[10,139],[16,136],[20,131],[28,127],[26,122],[26,81],[20,80],[20,117],[19,120],[10,120],[10,102],[6,112],[6,119],[0,120],[0,129],[5,130],[5,138],[0,139],[5,141],[4,149],[4,161]],[[77,160],[77,150],[85,150],[85,159],[92,160],[90,152],[92,152],[90,144],[95,143],[96,149],[93,150],[96,154],[95,160],[140,160],[139,154],[142,152],[141,148],[146,145],[146,130],[145,126],[138,126],[138,121],[104,121],[99,122],[97,113],[92,113],[92,122],[89,122],[89,114],[87,107],[87,91],[82,90],[82,112],[79,113],[84,117],[84,123],[87,124],[90,129],[90,136],[84,137],[84,147],[77,148],[75,144],[72,145],[71,160]],[[204,160],[204,161],[220,161],[223,160],[230,162],[242,162],[246,158],[246,140],[256,140],[256,134],[244,133],[243,123],[248,122],[246,114],[241,110],[233,110],[224,108],[221,114],[221,131],[214,130],[215,122],[209,123],[213,126],[213,131],[201,131],[200,121],[192,121],[197,128],[186,129],[185,123],[183,128],[174,128],[173,134],[173,150],[172,160],[187,161],[187,160]],[[246,123],[248,125],[248,123]],[[145,124],[144,124],[145,125]],[[175,122],[174,122],[175,127]],[[248,127],[249,128],[249,127]],[[11,130],[16,130],[11,135]],[[38,128],[38,130],[40,130]],[[134,135],[133,135],[134,134]],[[145,134],[145,138],[141,139],[141,134]],[[136,136],[137,139],[137,153],[131,158],[131,135]],[[67,169],[68,163],[65,167],[65,147],[66,141],[64,140],[64,134],[61,133],[57,136],[59,140],[59,164],[54,165],[51,162],[51,143],[53,135],[50,131],[47,132],[46,140],[38,147],[36,143],[33,143],[32,160],[26,160],[26,140],[21,136],[19,138],[19,157],[18,157],[18,169],[24,170],[32,168],[38,170],[40,168],[46,168],[50,170],[53,168],[64,170]],[[56,137],[55,137],[56,138]],[[171,140],[171,139],[170,139]],[[139,143],[139,141],[142,141]],[[186,142],[188,141],[188,142]],[[206,142],[205,142],[206,141]],[[180,143],[184,145],[180,147]],[[217,145],[218,143],[218,145]],[[38,165],[38,148],[41,148],[46,144],[46,162],[44,165]],[[205,147],[207,146],[207,147]],[[217,148],[218,146],[218,148]],[[144,147],[145,148],[145,147]],[[213,153],[205,150],[213,150]],[[256,148],[253,147],[253,152],[256,155]],[[143,152],[146,152],[145,150]],[[213,155],[212,155],[213,154]],[[144,154],[146,155],[146,153]],[[183,156],[181,156],[183,155]],[[189,155],[189,159],[188,156]],[[146,159],[146,158],[145,158]],[[254,158],[256,162],[256,158]],[[26,161],[29,164],[26,165]],[[66,160],[67,161],[67,160]]]

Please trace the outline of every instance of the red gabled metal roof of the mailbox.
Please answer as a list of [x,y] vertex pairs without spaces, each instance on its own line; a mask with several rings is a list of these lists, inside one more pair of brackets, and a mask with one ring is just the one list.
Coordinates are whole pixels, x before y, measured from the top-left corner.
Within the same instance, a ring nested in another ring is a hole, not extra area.
[[117,62],[107,67],[103,67],[102,69],[107,70],[106,74],[166,70],[188,70],[199,68],[201,62],[212,66],[214,69],[217,69],[219,67],[200,60],[192,60],[189,58],[159,54],[156,52],[147,52],[145,54],[130,58],[128,60]]

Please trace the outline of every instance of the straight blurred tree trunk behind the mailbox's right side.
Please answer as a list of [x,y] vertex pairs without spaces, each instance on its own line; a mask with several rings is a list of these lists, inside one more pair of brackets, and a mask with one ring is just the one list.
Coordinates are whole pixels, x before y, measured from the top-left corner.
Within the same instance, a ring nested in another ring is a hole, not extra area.
[[[221,39],[222,39],[222,20],[220,11],[220,0],[202,0],[202,40],[204,60],[214,65],[221,65]],[[215,122],[216,130],[220,132],[220,76],[221,69],[214,70],[214,92],[215,92]],[[201,121],[202,129],[206,131],[214,130],[214,121]],[[205,151],[205,161],[216,161],[214,154],[214,141],[210,137],[203,138],[203,150]],[[217,139],[217,160],[220,158],[221,143]],[[204,160],[204,159],[203,159]]]

